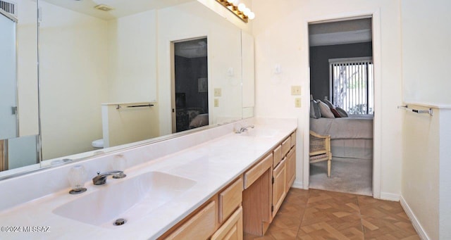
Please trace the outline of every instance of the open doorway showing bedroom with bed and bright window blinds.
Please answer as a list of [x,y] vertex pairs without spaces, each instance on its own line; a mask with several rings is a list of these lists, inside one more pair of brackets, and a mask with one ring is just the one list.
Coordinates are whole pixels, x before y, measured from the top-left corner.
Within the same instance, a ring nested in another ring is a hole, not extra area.
[[372,23],[371,16],[309,23],[310,130],[330,136],[332,156],[330,177],[327,160],[309,164],[311,188],[373,195]]

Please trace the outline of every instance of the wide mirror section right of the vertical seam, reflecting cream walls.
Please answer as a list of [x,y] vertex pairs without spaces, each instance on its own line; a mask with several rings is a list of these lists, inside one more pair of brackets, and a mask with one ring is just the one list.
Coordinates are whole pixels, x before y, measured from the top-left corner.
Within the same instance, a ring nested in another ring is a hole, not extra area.
[[209,55],[208,77],[194,83],[208,98],[190,106],[203,111],[185,129],[205,113],[210,125],[242,118],[240,29],[197,1],[144,2],[109,1],[105,12],[89,1],[39,1],[44,160],[177,132],[171,43],[182,39],[206,36]]

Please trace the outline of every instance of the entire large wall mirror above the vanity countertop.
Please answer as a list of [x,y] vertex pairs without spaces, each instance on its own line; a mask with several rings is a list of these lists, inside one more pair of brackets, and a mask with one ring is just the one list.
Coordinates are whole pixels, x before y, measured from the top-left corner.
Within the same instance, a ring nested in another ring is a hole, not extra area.
[[18,135],[0,155],[29,152],[0,177],[253,115],[253,39],[199,1],[15,3]]

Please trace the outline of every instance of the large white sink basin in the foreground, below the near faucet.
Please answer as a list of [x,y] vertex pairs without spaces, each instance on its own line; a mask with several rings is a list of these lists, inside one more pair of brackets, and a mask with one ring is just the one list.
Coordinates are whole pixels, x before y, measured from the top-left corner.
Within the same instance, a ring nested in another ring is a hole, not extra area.
[[104,186],[99,186],[102,188],[99,191],[82,194],[53,213],[89,225],[120,227],[113,225],[118,218],[135,221],[196,184],[191,179],[163,172],[147,172],[121,182],[114,181],[119,180],[109,177]]

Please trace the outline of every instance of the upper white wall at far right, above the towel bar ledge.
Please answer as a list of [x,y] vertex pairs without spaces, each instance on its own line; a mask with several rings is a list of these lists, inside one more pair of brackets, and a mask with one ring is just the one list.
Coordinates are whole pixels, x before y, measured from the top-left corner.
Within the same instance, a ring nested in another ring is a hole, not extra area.
[[401,3],[404,101],[451,104],[451,1]]

